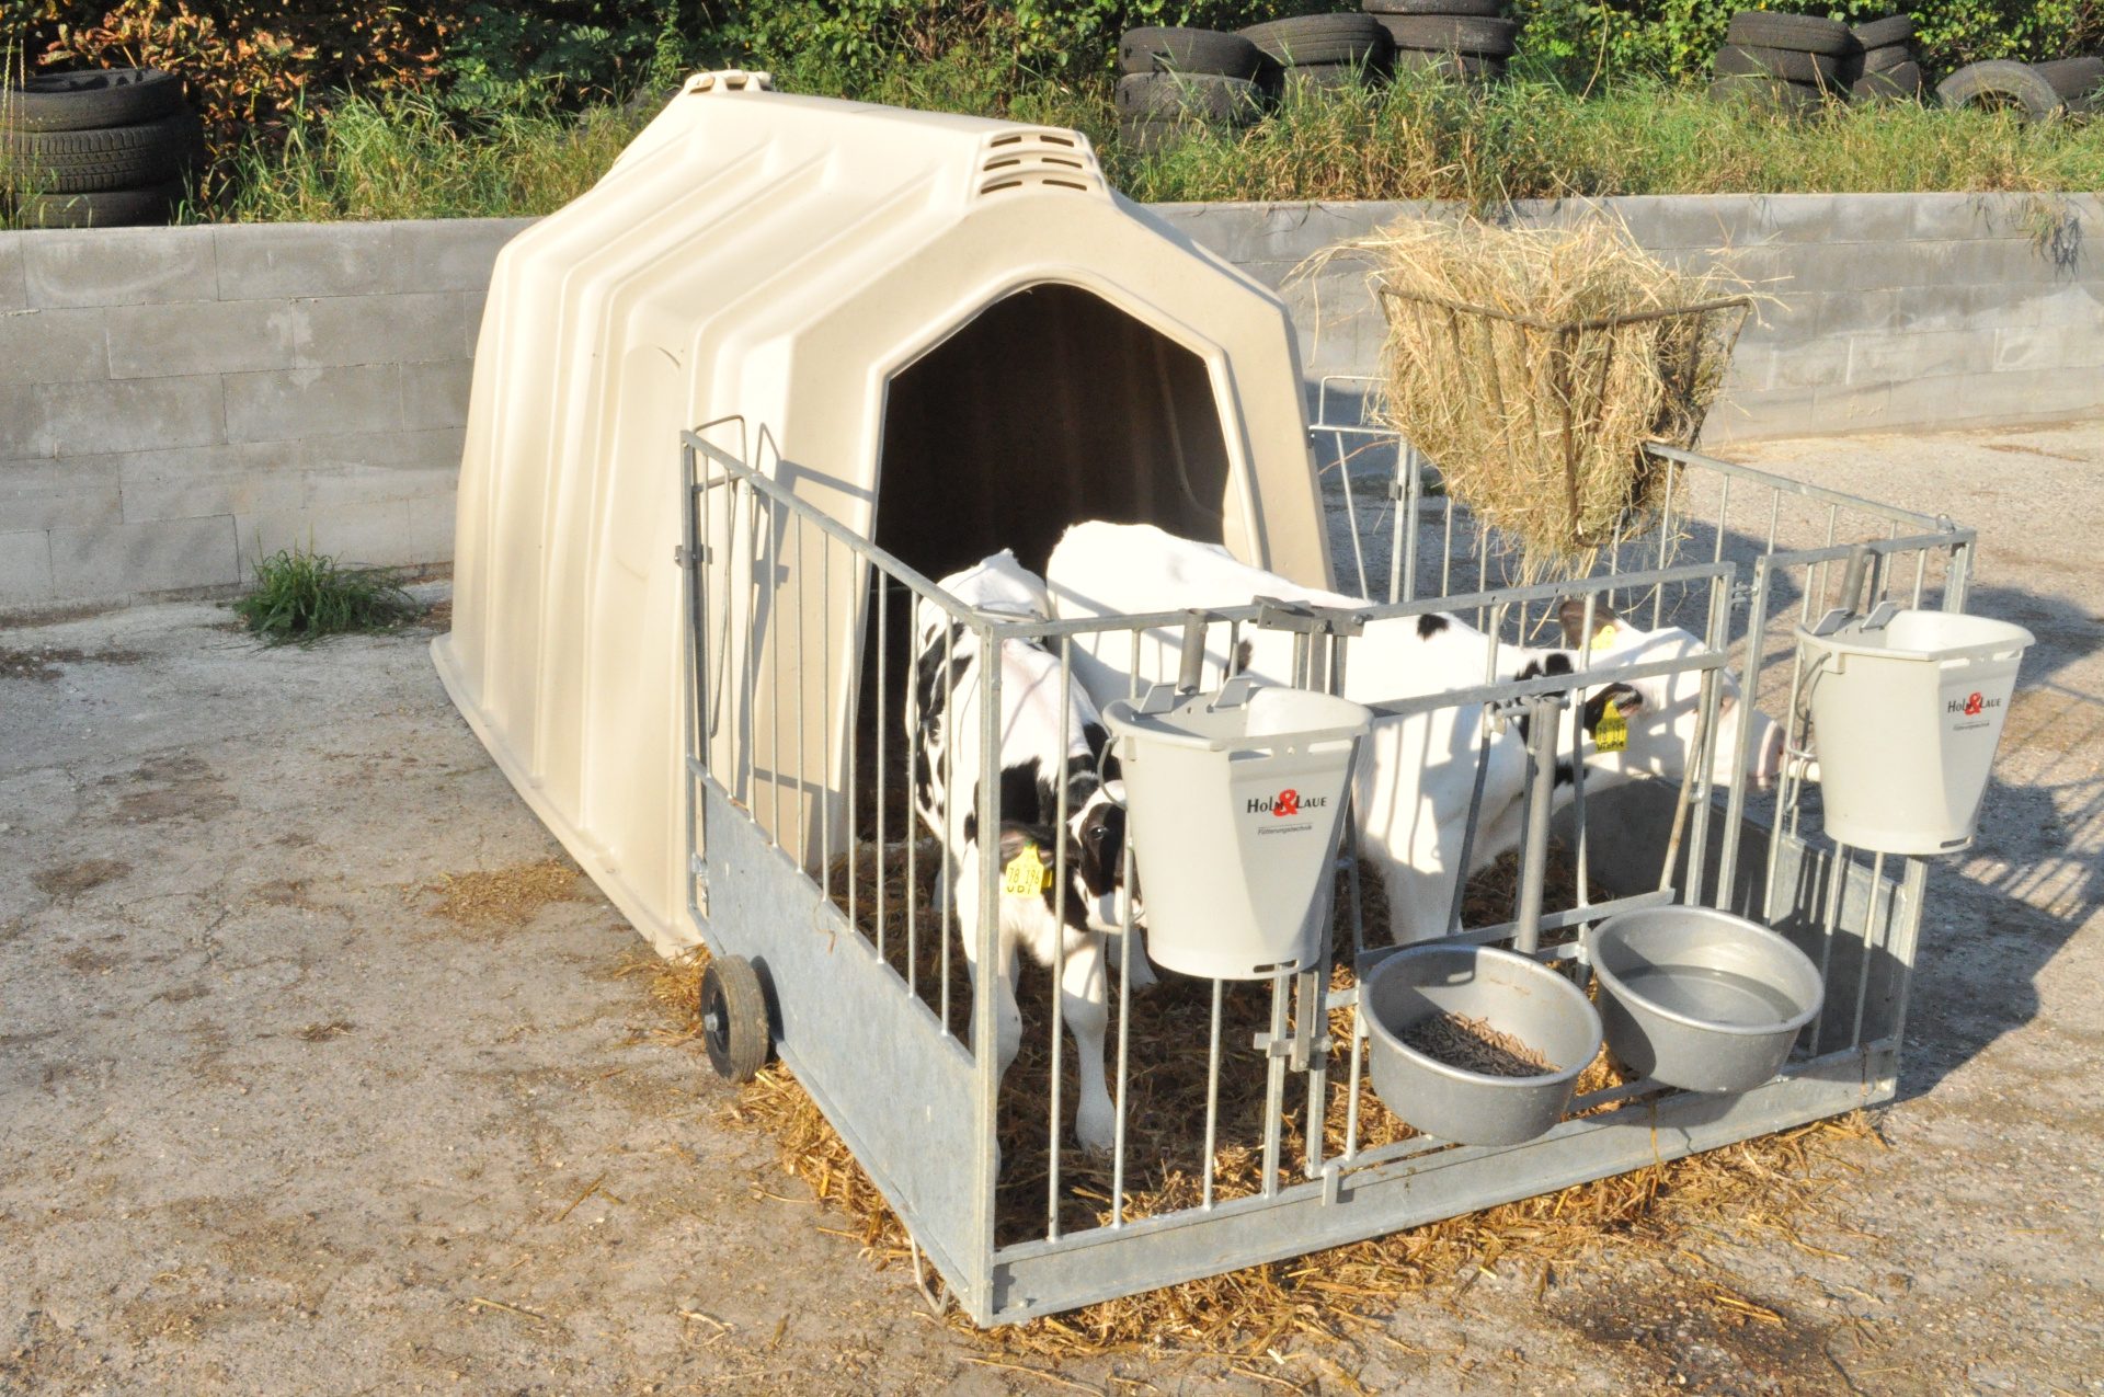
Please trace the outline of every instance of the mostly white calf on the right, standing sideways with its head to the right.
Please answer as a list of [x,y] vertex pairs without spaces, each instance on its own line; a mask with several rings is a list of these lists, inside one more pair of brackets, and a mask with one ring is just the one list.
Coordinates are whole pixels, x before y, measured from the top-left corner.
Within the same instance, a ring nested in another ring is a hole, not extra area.
[[[1166,534],[1149,524],[1077,524],[1067,530],[1046,568],[1048,589],[1060,616],[1149,614],[1187,608],[1248,606],[1254,598],[1363,608],[1359,598],[1300,587],[1283,576],[1235,562],[1227,549]],[[1565,614],[1576,642],[1582,604]],[[1635,665],[1692,654],[1700,642],[1681,629],[1637,631],[1603,606],[1595,608],[1593,665]],[[1292,635],[1243,629],[1241,652],[1225,652],[1225,627],[1214,627],[1216,648],[1208,661],[1216,671],[1250,673],[1275,684],[1292,682]],[[1142,682],[1174,680],[1180,633],[1142,637]],[[1370,621],[1351,644],[1344,696],[1359,703],[1439,694],[1490,680],[1523,680],[1576,671],[1572,650],[1536,650],[1498,644],[1450,614]],[[1128,692],[1130,642],[1100,646],[1084,654],[1075,640],[1073,671],[1098,699]],[[1738,703],[1736,684],[1723,675],[1719,705],[1719,781],[1729,781],[1729,753],[1738,724],[1751,713],[1748,772],[1765,787],[1776,770],[1780,732],[1753,705]],[[1565,715],[1559,753],[1584,751],[1586,785],[1637,774],[1679,778],[1696,728],[1694,671],[1637,684],[1586,686],[1584,703]],[[1620,751],[1601,751],[1593,736],[1610,707],[1622,732]],[[1582,722],[1586,743],[1578,747],[1570,724]],[[1353,808],[1359,850],[1378,867],[1389,890],[1391,934],[1399,943],[1445,934],[1454,898],[1456,865],[1469,823],[1483,711],[1477,705],[1435,709],[1412,717],[1378,717],[1359,747],[1353,772]],[[1490,734],[1490,766],[1477,837],[1469,846],[1469,867],[1477,873],[1504,850],[1517,848],[1525,797],[1525,738],[1519,724]],[[1567,802],[1570,760],[1559,757],[1557,799]]]

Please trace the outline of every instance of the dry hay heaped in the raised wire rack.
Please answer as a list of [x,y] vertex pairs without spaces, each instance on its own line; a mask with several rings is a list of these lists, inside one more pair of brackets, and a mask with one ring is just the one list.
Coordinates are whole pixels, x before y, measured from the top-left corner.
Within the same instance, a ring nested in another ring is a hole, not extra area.
[[1401,219],[1311,271],[1347,255],[1389,318],[1380,421],[1521,545],[1525,576],[1582,574],[1656,518],[1671,467],[1641,444],[1694,444],[1744,309],[1599,322],[1742,297],[1740,278],[1668,267],[1603,219]]

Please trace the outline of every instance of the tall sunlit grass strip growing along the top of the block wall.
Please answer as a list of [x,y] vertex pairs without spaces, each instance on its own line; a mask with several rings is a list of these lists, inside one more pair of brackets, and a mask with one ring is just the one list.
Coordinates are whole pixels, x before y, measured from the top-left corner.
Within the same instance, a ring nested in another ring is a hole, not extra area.
[[[1913,103],[1788,120],[1628,84],[1580,97],[1549,82],[1471,90],[1414,80],[1286,101],[1241,133],[1138,156],[1117,141],[1109,80],[1033,82],[953,55],[844,93],[907,107],[1077,126],[1136,200],[1464,200],[1622,194],[2104,189],[2104,122],[2024,126]],[[351,99],[234,160],[234,221],[442,219],[560,208],[612,164],[642,118],[511,112],[463,120],[408,99]]]

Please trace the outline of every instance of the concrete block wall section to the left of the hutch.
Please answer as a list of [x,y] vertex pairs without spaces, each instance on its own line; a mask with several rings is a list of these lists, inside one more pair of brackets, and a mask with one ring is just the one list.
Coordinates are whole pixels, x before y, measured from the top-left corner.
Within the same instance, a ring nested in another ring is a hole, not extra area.
[[524,221],[0,234],[0,608],[452,555],[490,263]]

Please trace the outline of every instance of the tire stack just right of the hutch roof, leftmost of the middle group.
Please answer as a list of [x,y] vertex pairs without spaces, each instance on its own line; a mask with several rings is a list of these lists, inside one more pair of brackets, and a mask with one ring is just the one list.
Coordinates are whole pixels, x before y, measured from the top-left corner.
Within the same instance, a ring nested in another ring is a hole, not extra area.
[[1117,40],[1117,133],[1140,151],[1176,145],[1199,126],[1248,126],[1262,114],[1262,55],[1239,34],[1128,29]]

